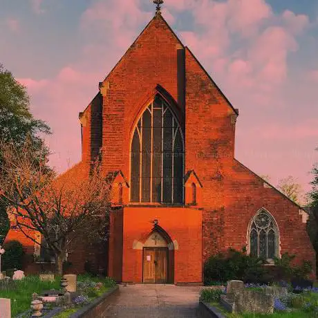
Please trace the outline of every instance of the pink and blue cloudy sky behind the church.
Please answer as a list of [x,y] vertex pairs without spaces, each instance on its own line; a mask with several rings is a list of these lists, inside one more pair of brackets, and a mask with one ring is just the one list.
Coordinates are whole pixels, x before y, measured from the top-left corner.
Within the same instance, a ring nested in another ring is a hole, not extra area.
[[[80,160],[78,113],[153,17],[151,2],[33,0],[4,13],[1,62],[52,127],[59,171]],[[162,15],[240,110],[236,158],[274,185],[291,175],[308,190],[318,161],[318,6],[272,2],[166,0]]]

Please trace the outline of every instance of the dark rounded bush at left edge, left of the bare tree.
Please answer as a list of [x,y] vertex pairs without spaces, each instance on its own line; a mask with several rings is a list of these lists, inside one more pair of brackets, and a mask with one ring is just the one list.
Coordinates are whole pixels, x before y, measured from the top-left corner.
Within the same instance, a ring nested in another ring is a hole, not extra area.
[[21,270],[24,257],[22,244],[19,241],[8,241],[8,243],[3,245],[3,248],[6,252],[1,258],[1,269],[9,270],[17,268],[17,270]]

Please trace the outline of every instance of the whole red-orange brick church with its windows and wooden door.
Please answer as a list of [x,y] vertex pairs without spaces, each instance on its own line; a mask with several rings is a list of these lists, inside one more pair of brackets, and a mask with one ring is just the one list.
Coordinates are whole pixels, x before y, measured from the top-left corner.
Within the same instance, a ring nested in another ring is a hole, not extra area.
[[[230,247],[315,264],[308,214],[236,160],[237,119],[158,8],[79,113],[79,165],[100,158],[113,176],[108,276],[201,284],[207,258]],[[73,272],[85,257],[70,254]]]

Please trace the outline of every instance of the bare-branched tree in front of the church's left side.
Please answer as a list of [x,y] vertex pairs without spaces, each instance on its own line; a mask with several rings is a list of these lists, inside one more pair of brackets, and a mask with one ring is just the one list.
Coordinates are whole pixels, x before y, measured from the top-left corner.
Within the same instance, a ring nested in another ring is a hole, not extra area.
[[[35,244],[40,233],[55,256],[55,269],[62,274],[68,246],[80,235],[101,235],[108,220],[110,187],[100,162],[82,164],[56,178],[47,157],[27,140],[19,149],[0,142],[0,200],[10,203],[10,217]],[[40,159],[39,159],[40,158]]]

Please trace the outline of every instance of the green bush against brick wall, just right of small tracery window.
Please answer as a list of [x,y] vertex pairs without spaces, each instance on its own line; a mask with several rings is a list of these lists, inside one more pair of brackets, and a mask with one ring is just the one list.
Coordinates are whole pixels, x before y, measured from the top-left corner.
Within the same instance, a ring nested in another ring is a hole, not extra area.
[[274,258],[277,271],[284,279],[292,278],[307,278],[312,272],[312,263],[310,261],[303,261],[302,265],[292,265],[295,255],[290,255],[288,252],[281,255],[281,258]]

